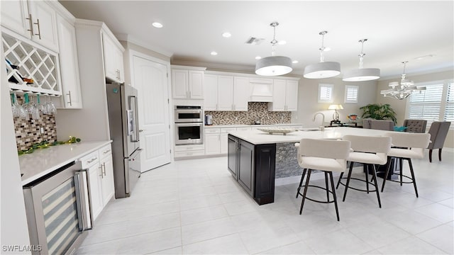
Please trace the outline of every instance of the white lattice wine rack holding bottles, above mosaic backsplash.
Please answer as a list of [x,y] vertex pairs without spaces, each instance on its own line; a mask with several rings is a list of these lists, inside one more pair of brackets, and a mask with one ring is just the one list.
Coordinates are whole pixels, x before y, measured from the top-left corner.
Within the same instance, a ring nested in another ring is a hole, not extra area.
[[60,96],[55,53],[46,52],[11,35],[2,33],[9,87],[18,91]]

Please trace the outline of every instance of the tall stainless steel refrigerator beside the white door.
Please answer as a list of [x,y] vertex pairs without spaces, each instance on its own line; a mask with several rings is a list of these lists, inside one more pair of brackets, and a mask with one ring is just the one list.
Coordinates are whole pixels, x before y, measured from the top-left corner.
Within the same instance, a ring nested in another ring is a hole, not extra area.
[[140,178],[137,90],[125,84],[106,84],[109,127],[114,159],[115,198],[131,196]]

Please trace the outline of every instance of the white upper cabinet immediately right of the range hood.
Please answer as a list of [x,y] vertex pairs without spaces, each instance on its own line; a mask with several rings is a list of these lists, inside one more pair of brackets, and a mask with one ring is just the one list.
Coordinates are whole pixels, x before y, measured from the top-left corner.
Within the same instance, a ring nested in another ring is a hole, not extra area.
[[275,79],[272,89],[272,103],[268,111],[297,111],[298,81],[290,79]]

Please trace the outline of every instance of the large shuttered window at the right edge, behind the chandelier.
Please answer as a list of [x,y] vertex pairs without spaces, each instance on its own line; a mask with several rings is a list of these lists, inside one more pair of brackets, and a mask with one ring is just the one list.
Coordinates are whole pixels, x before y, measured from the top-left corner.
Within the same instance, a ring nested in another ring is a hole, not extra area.
[[417,86],[426,86],[426,91],[411,94],[407,118],[427,120],[428,126],[434,121],[454,121],[453,81],[433,81]]

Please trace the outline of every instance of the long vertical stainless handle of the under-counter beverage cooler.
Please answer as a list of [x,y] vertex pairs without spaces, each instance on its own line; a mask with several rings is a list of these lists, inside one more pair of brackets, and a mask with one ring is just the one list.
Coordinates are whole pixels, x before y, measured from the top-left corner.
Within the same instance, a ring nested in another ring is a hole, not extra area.
[[74,174],[74,186],[77,196],[77,215],[79,220],[79,229],[86,231],[92,229],[92,205],[89,199],[89,185],[87,169],[76,171]]

